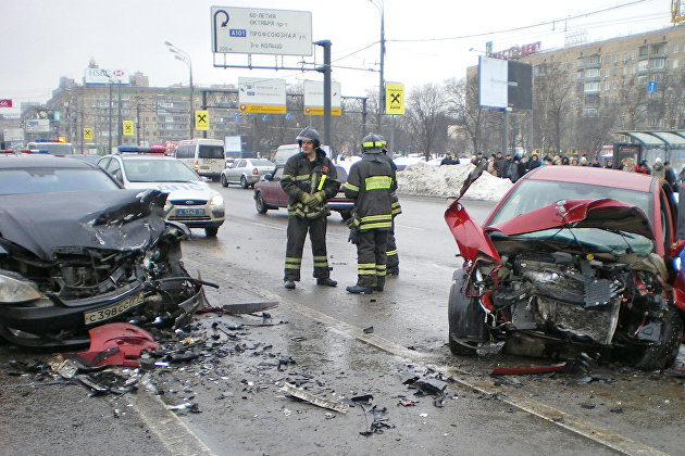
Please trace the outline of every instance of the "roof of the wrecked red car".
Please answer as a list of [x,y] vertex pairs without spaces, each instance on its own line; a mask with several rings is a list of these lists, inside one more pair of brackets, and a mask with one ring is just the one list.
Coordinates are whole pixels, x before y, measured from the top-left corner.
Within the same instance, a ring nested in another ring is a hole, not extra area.
[[524,179],[556,180],[650,192],[655,177],[642,173],[627,173],[622,169],[547,165],[527,173]]

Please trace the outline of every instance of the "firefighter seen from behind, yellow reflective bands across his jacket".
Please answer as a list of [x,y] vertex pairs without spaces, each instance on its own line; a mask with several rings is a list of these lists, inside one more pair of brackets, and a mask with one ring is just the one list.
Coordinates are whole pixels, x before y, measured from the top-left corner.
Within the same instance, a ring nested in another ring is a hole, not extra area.
[[350,240],[357,244],[357,284],[350,293],[383,291],[386,275],[388,232],[393,228],[393,198],[397,179],[390,160],[383,154],[385,140],[368,135],[362,140],[362,160],[350,168],[342,186],[354,200],[354,215],[348,220]]

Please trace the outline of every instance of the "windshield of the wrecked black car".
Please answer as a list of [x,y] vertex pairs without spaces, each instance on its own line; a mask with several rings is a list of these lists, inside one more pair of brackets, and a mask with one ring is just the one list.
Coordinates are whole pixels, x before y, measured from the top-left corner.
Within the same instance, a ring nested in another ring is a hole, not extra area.
[[119,188],[104,172],[99,169],[0,169],[0,194],[116,190]]

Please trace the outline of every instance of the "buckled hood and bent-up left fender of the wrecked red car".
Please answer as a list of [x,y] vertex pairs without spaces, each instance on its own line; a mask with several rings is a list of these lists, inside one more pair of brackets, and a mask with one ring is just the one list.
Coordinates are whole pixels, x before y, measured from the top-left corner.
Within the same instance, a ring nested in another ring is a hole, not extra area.
[[454,201],[445,212],[445,220],[461,255],[471,261],[478,252],[499,261],[497,250],[486,236],[491,231],[515,236],[572,225],[577,228],[618,229],[653,240],[651,225],[639,208],[610,199],[559,201],[485,229],[469,217],[459,201]]

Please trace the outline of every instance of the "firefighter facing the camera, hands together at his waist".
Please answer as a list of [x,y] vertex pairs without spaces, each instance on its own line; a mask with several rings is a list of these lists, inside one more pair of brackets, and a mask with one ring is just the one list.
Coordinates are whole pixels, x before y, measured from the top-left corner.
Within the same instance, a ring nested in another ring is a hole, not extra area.
[[300,152],[286,162],[281,187],[288,194],[288,229],[285,261],[285,288],[300,280],[302,249],[307,231],[314,256],[314,277],[321,286],[335,287],[326,253],[326,201],[340,189],[335,165],[321,149],[319,132],[304,128],[297,137]]

